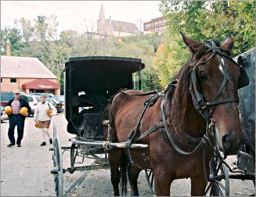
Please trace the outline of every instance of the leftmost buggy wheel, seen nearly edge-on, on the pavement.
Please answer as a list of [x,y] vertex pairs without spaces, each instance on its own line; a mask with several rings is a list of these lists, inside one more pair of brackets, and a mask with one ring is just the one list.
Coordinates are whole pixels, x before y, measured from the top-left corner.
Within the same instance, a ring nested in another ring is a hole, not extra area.
[[63,195],[63,160],[59,143],[59,137],[56,135],[56,124],[53,124],[53,170],[56,196]]

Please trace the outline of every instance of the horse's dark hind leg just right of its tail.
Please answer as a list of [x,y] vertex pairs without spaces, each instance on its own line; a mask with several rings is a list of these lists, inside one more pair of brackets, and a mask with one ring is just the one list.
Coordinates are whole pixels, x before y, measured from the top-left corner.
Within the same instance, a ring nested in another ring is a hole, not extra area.
[[129,182],[131,185],[131,195],[139,195],[139,191],[138,191],[138,185],[137,185],[137,180],[139,177],[139,173],[140,173],[141,169],[139,167],[131,167],[129,165],[128,167],[128,178],[129,178]]

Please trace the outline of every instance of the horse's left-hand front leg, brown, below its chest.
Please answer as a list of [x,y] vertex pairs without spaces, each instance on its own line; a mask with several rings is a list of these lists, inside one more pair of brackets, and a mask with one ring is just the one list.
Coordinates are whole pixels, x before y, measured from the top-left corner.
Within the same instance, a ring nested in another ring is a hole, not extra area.
[[170,195],[170,188],[171,188],[171,174],[168,174],[166,170],[157,167],[153,171],[153,178],[154,178],[154,186],[157,195]]

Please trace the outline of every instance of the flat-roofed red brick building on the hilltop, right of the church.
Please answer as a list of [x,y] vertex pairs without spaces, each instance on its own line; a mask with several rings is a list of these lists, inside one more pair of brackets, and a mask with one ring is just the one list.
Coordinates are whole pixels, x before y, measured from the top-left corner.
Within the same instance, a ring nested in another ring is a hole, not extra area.
[[161,33],[167,28],[167,20],[164,16],[153,19],[149,22],[143,23],[144,33],[150,34],[153,32]]

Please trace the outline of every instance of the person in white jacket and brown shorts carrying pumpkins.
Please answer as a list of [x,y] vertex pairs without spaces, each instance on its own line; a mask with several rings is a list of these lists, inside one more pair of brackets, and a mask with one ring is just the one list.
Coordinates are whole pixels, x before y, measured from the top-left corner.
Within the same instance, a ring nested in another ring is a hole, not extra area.
[[34,121],[38,123],[38,128],[41,131],[42,142],[41,145],[46,145],[45,134],[49,138],[50,144],[52,144],[52,138],[49,133],[49,126],[51,124],[52,116],[56,115],[57,109],[52,105],[51,102],[46,101],[46,95],[40,95],[41,102],[34,110]]

